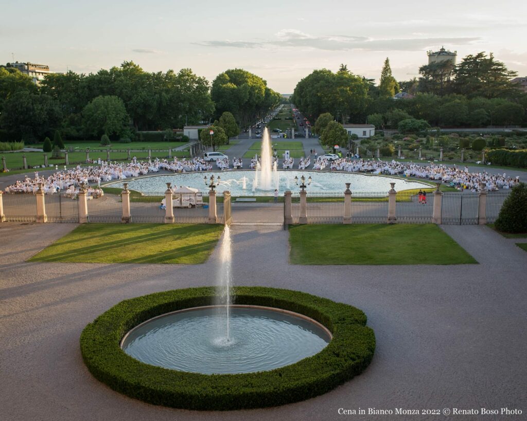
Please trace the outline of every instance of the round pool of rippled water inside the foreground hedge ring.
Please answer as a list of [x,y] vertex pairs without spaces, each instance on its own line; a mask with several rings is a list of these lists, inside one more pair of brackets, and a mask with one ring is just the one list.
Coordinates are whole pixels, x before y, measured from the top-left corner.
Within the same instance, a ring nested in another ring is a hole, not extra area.
[[306,316],[259,306],[207,306],[164,314],[123,338],[124,352],[143,363],[184,372],[237,374],[272,370],[317,354],[331,340]]

